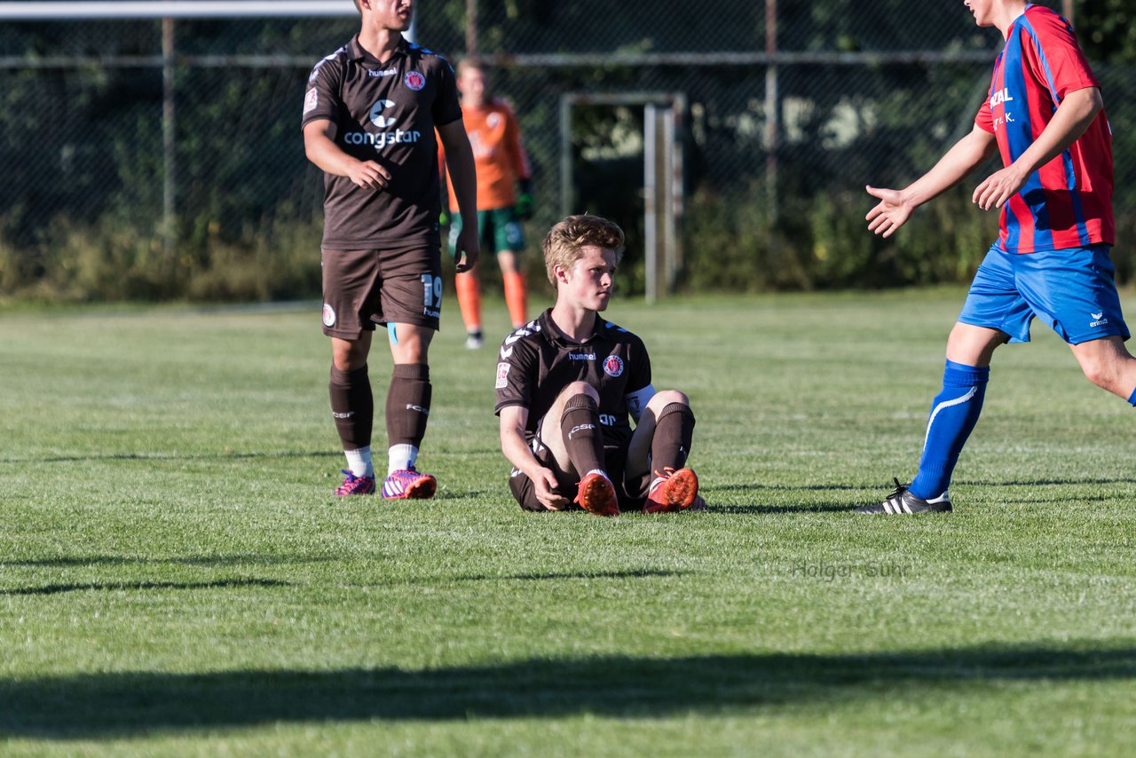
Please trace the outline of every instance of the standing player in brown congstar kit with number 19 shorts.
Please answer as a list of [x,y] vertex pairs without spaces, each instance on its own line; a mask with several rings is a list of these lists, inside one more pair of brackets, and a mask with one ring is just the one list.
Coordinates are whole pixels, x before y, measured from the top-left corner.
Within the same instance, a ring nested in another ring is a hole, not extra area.
[[[442,306],[435,128],[469,230],[477,228],[477,180],[453,69],[402,38],[412,0],[356,7],[359,34],[316,64],[302,120],[308,159],[325,172],[324,333],[332,339],[332,415],[348,458],[335,494],[375,491],[367,356],[375,324],[384,324],[394,370],[383,497],[431,498],[437,483],[416,463],[431,405],[427,351]],[[458,270],[477,253],[477,234],[461,234]]]

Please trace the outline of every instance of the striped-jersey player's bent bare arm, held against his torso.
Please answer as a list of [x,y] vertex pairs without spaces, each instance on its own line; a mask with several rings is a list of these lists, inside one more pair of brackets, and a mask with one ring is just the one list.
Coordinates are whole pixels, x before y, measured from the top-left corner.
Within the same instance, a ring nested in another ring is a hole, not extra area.
[[1029,148],[1016,161],[991,174],[975,188],[971,198],[983,210],[1001,208],[1026,185],[1029,175],[1066,151],[1085,133],[1104,108],[1101,91],[1095,86],[1066,94],[1051,120]]

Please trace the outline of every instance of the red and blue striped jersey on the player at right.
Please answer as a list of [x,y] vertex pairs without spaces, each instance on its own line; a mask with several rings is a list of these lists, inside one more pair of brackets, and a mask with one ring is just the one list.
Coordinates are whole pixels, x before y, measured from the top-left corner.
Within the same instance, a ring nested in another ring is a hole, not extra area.
[[[1069,92],[1099,86],[1069,23],[1049,8],[1027,6],[1010,26],[975,123],[995,135],[1009,166],[1041,135]],[[999,244],[1006,252],[1113,243],[1112,135],[1103,110],[1002,206],[1001,224]]]

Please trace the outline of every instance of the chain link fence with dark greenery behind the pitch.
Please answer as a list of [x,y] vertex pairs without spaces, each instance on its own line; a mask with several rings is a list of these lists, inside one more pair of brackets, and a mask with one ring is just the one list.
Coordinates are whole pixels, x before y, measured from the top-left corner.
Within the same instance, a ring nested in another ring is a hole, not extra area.
[[[997,226],[970,207],[975,180],[893,240],[867,232],[863,185],[911,181],[969,131],[1000,44],[962,3],[913,7],[419,0],[415,33],[482,59],[513,103],[536,172],[531,240],[566,209],[610,216],[628,231],[621,284],[641,290],[643,108],[575,107],[565,135],[561,101],[677,93],[680,286],[887,286],[964,280]],[[300,111],[311,66],[357,30],[354,16],[5,24],[0,293],[312,297],[323,182]],[[1136,64],[1094,68],[1128,278]]]

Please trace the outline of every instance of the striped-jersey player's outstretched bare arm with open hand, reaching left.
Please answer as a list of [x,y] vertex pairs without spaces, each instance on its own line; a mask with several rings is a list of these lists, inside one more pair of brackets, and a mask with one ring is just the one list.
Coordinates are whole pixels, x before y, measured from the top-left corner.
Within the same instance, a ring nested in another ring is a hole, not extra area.
[[868,211],[868,231],[884,238],[903,226],[916,208],[941,195],[966,178],[989,158],[997,142],[989,132],[975,126],[954,143],[935,166],[902,190],[867,186],[879,203]]

